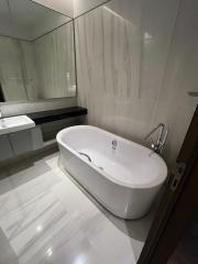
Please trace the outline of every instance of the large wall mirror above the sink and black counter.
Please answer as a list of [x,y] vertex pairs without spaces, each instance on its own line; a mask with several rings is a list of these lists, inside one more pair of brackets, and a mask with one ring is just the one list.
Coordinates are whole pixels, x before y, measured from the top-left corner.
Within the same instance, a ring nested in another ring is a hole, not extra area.
[[75,96],[73,20],[30,0],[0,0],[0,102]]

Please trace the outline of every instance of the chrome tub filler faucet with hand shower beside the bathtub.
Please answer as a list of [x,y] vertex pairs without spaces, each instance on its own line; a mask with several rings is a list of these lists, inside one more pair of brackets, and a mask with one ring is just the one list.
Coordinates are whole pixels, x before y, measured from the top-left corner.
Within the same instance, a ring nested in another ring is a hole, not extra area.
[[151,148],[158,153],[162,154],[164,150],[164,145],[166,143],[167,134],[168,134],[168,129],[166,129],[165,124],[160,123],[156,128],[154,128],[146,136],[145,140],[147,140],[153,133],[155,133],[158,130],[158,136],[156,142],[152,142]]

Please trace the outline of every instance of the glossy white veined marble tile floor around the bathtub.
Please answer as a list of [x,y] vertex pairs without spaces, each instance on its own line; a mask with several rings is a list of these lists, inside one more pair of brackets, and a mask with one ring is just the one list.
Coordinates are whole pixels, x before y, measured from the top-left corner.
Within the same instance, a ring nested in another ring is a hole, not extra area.
[[0,264],[135,264],[153,213],[136,221],[113,217],[57,160],[58,153],[2,173]]

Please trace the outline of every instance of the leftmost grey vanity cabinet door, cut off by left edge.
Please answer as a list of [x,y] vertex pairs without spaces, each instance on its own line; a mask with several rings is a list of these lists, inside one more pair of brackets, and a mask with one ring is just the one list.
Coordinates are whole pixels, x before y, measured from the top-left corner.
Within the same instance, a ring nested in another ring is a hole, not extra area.
[[13,151],[8,135],[0,136],[0,161],[10,158],[13,156]]

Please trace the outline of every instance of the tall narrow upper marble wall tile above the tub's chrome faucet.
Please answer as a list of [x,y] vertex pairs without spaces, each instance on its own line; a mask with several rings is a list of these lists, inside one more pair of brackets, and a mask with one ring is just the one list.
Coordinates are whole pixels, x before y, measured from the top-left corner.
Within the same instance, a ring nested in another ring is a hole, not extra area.
[[179,2],[180,0],[142,1],[141,98],[157,99],[164,80]]

